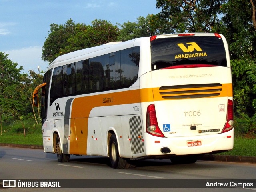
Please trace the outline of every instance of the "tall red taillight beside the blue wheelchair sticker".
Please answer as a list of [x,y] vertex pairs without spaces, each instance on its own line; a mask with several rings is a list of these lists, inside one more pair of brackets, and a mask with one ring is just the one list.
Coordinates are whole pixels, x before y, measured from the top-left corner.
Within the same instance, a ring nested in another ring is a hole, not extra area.
[[157,119],[156,119],[156,109],[155,105],[151,104],[147,108],[147,118],[146,118],[146,132],[157,136],[157,137],[164,137],[164,134],[158,127]]

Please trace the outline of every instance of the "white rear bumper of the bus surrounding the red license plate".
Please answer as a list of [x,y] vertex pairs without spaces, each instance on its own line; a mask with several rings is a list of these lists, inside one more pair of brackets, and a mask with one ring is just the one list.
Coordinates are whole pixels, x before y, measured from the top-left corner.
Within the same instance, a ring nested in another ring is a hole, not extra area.
[[[214,151],[232,150],[234,146],[234,129],[222,134],[209,134],[202,136],[168,137],[160,138],[145,133],[146,156],[159,155],[190,155],[208,154]],[[188,142],[201,141],[200,145],[188,146]],[[168,154],[163,148],[169,148]]]

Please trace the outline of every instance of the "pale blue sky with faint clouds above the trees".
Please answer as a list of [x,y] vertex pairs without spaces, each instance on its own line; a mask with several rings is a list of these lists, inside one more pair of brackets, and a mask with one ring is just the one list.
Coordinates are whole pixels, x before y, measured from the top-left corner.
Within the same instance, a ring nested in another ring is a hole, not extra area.
[[95,19],[112,24],[135,22],[139,16],[160,12],[156,0],[0,0],[0,52],[22,66],[22,72],[45,71],[42,46],[50,24],[91,25]]

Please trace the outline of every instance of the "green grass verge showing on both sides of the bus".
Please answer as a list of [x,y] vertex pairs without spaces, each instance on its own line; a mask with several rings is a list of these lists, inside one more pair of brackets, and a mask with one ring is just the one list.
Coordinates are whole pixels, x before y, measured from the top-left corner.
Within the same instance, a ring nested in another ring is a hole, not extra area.
[[[18,121],[14,121],[3,126],[0,143],[43,145],[41,124],[35,124],[33,119],[24,121],[23,123],[26,127],[26,137],[23,135],[22,124]],[[255,133],[250,135],[246,134],[241,127],[235,126],[234,149],[220,154],[256,157],[255,146]]]

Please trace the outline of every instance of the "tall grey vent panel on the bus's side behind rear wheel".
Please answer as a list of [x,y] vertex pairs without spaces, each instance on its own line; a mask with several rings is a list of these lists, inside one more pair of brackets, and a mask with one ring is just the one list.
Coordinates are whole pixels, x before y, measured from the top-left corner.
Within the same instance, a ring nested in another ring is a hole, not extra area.
[[129,119],[132,154],[144,152],[144,142],[140,116]]

